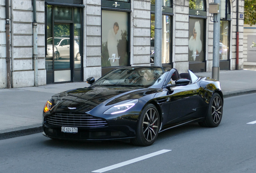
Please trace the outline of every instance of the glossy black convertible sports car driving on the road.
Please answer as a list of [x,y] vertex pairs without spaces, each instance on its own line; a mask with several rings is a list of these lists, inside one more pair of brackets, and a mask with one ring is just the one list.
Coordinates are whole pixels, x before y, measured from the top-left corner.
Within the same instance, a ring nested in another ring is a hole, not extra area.
[[217,127],[222,118],[220,82],[155,66],[116,68],[90,87],[58,93],[43,109],[43,135],[68,140],[154,143],[159,132],[199,123]]

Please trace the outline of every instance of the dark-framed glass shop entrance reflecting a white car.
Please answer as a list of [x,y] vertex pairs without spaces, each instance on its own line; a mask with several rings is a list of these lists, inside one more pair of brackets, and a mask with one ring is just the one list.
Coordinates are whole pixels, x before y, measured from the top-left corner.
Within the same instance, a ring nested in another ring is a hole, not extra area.
[[82,81],[81,8],[47,6],[46,14],[46,83]]

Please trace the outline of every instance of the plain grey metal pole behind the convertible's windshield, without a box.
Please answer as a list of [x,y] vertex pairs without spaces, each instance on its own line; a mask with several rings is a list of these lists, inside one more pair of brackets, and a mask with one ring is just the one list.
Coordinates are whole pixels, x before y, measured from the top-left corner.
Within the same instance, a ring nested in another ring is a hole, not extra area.
[[155,1],[155,57],[154,66],[162,66],[162,1]]

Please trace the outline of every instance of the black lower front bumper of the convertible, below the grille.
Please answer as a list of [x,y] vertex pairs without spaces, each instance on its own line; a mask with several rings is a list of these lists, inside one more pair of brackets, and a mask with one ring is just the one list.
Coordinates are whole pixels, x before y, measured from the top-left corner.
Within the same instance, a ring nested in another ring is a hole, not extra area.
[[[122,140],[135,137],[137,121],[129,117],[107,120],[107,127],[77,127],[78,133],[64,133],[62,126],[43,123],[43,135],[54,139],[66,140]],[[68,127],[68,126],[64,126]]]

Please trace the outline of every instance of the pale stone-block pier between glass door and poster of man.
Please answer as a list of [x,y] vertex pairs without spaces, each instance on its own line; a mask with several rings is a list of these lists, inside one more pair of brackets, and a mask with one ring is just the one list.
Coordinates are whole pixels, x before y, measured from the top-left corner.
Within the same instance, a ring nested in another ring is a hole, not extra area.
[[101,0],[84,1],[84,81],[101,77]]

